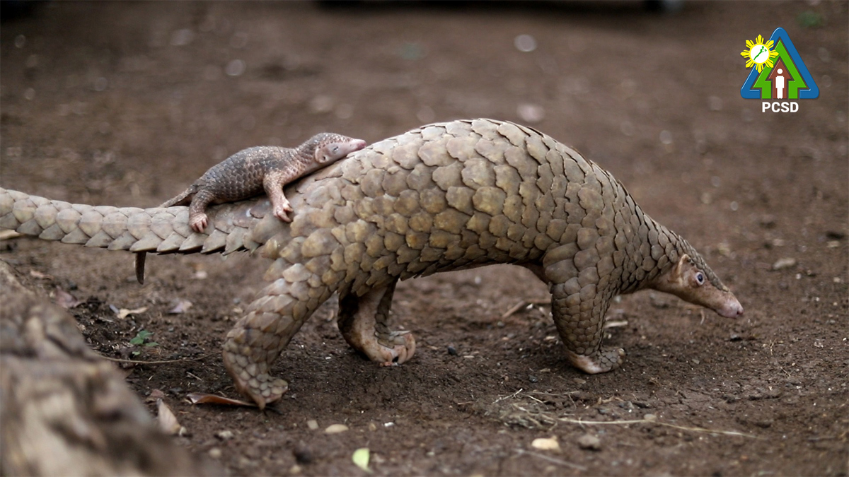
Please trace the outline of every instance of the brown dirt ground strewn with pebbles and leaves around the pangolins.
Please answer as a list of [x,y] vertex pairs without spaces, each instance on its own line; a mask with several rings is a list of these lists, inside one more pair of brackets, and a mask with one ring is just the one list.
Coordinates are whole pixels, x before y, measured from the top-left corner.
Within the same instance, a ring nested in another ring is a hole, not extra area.
[[[279,412],[192,406],[188,392],[236,396],[218,351],[265,259],[150,256],[140,286],[128,253],[11,239],[0,258],[81,300],[70,312],[104,355],[202,358],[127,380],[140,396],[164,391],[189,432],[175,439],[228,474],[364,475],[351,455],[368,447],[380,475],[846,475],[847,12],[54,2],[4,19],[0,186],[51,199],[155,206],[239,149],[322,131],[374,142],[492,117],[574,145],[745,306],[731,320],[669,295],[621,297],[606,341],[628,356],[612,373],[571,368],[546,286],[498,266],[399,286],[411,362],[380,368],[351,351],[334,298],[276,364],[290,382]],[[820,87],[794,114],[739,94],[745,40],[779,26]],[[193,306],[171,313],[179,300]],[[131,345],[140,330],[156,345]],[[559,450],[531,446],[550,437]]]

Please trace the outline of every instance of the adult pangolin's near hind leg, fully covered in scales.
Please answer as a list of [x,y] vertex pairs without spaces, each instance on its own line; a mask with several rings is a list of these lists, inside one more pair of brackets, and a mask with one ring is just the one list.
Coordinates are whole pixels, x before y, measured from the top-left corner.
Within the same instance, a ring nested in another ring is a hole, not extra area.
[[305,267],[290,267],[250,303],[245,317],[224,340],[225,367],[239,392],[250,396],[260,409],[280,399],[289,387],[283,379],[271,376],[272,363],[332,293],[326,286],[311,286],[311,282],[316,283],[315,276]]

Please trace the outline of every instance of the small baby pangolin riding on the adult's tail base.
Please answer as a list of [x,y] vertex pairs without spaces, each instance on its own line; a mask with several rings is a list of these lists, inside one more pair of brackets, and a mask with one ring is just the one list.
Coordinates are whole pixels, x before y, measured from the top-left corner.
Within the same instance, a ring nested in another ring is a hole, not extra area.
[[[212,166],[182,194],[166,200],[160,207],[188,205],[188,225],[194,232],[203,232],[209,223],[207,205],[248,199],[265,191],[274,215],[292,222],[288,216],[292,206],[283,193],[284,186],[364,147],[363,139],[320,132],[294,149],[274,146],[243,149]],[[144,283],[145,258],[144,252],[136,255],[138,283]]]

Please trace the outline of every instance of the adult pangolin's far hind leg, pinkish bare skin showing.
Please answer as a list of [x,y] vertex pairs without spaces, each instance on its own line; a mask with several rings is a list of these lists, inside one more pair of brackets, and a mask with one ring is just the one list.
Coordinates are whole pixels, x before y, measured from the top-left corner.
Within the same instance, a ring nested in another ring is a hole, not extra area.
[[348,345],[384,366],[406,362],[416,351],[412,334],[391,331],[388,326],[396,283],[372,289],[363,296],[342,293],[339,300],[339,330]]

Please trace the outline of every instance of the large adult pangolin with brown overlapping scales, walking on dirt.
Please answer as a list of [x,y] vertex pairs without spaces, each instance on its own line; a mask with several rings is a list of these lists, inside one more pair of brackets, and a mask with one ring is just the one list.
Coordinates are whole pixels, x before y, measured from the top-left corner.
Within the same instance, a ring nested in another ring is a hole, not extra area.
[[[693,247],[636,205],[609,172],[551,137],[492,120],[422,126],[374,143],[307,177],[294,221],[267,200],[211,208],[208,236],[184,208],[69,205],[0,190],[0,227],[42,239],[132,251],[256,250],[271,282],[227,334],[224,363],[259,407],[287,385],[271,364],[334,292],[349,345],[383,364],[415,351],[387,326],[399,279],[492,263],[525,266],[549,285],[570,362],[587,373],[618,368],[624,351],[601,345],[615,295],[654,288],[724,317],[743,313]],[[58,211],[61,210],[61,211]],[[91,239],[89,239],[91,238]]]

